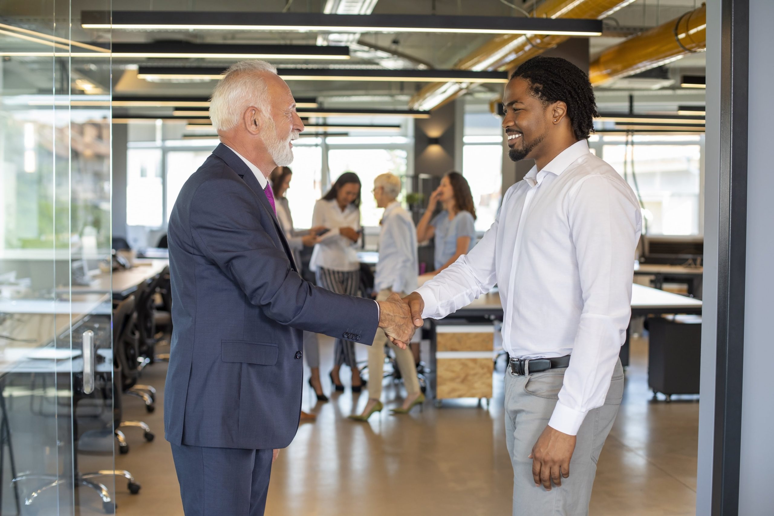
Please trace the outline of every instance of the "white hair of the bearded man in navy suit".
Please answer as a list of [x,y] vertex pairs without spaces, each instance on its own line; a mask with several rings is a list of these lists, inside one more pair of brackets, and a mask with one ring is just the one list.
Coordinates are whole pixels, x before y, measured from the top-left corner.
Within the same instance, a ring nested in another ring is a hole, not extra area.
[[215,131],[233,128],[249,106],[259,108],[264,115],[268,113],[265,73],[276,75],[277,69],[262,60],[239,61],[224,72],[210,98],[210,120]]

